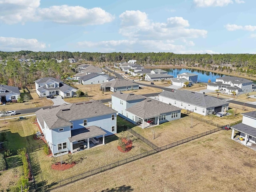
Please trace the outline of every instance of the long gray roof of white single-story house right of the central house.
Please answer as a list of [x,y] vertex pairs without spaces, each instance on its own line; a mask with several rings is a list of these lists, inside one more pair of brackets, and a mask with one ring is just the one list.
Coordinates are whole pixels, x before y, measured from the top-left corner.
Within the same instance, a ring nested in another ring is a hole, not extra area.
[[159,94],[159,96],[164,96],[173,100],[200,106],[202,108],[212,108],[229,104],[228,102],[221,99],[208,96],[200,92],[192,92],[188,90],[174,90],[173,92],[163,91]]

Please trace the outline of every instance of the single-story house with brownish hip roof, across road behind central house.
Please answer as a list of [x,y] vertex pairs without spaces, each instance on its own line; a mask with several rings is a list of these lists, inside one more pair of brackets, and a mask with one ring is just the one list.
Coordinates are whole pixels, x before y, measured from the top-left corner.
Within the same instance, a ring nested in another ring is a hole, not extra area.
[[133,81],[125,80],[125,79],[118,79],[106,83],[102,83],[100,85],[100,90],[103,91],[128,91],[128,90],[136,90],[139,89],[139,85],[134,83]]

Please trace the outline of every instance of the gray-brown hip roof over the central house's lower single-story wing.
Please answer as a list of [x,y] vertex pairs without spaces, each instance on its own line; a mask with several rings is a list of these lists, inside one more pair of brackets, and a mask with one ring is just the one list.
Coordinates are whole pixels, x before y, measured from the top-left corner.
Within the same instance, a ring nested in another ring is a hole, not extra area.
[[152,118],[168,112],[180,111],[181,108],[147,98],[138,104],[126,109],[126,111],[143,119]]

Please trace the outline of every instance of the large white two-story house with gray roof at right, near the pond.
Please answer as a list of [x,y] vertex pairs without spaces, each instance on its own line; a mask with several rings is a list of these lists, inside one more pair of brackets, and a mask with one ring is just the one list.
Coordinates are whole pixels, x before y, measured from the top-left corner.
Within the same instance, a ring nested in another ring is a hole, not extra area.
[[226,94],[232,94],[233,91],[236,95],[252,92],[252,81],[232,76],[223,76],[216,78],[216,82],[208,83],[207,89],[209,90],[225,90]]

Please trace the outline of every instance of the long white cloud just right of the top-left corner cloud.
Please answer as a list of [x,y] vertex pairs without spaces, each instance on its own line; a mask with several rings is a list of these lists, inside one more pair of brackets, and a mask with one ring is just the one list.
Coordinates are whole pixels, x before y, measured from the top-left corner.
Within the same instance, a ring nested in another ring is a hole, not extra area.
[[73,25],[98,25],[114,19],[114,16],[102,8],[86,9],[81,6],[68,5],[40,8],[38,16],[41,20]]

